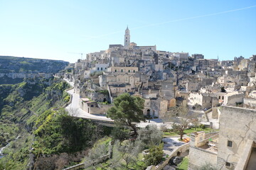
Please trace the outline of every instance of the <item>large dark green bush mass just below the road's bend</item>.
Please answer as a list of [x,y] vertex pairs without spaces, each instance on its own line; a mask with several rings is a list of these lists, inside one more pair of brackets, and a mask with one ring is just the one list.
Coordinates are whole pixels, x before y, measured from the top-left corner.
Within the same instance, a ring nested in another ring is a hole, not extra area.
[[72,153],[90,147],[102,136],[102,130],[90,120],[59,111],[50,113],[34,135],[36,151],[41,150],[43,154]]

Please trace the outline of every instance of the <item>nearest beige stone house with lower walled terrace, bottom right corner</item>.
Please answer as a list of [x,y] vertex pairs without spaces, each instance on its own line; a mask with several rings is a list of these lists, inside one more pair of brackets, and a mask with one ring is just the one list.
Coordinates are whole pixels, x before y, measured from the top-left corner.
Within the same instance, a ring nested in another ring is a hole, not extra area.
[[208,163],[221,170],[254,170],[256,111],[233,106],[222,106],[220,111],[218,135],[191,135],[189,169]]

